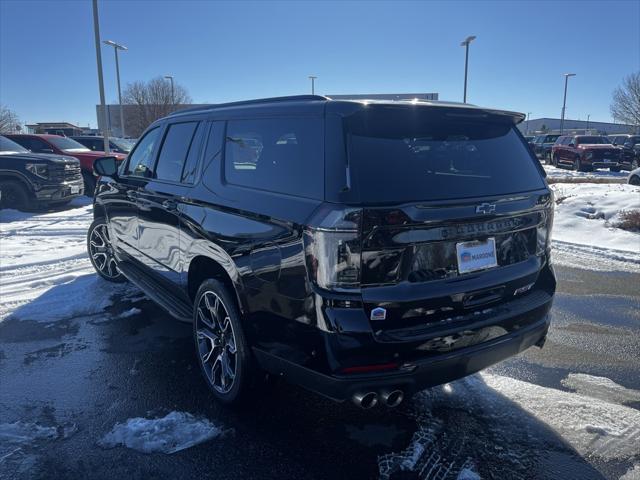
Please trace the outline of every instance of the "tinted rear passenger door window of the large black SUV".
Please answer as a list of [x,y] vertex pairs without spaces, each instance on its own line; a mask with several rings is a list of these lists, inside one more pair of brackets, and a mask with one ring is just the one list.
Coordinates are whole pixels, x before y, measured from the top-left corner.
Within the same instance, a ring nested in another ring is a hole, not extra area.
[[198,122],[174,123],[169,125],[164,137],[155,177],[160,180],[179,182],[182,169],[189,153]]

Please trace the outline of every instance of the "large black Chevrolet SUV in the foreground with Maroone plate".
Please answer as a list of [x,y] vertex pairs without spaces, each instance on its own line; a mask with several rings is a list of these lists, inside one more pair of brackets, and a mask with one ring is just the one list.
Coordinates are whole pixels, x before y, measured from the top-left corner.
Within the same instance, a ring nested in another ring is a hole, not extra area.
[[522,119],[319,96],[175,113],[96,162],[90,257],[193,322],[222,402],[268,372],[395,406],[545,341],[553,199]]

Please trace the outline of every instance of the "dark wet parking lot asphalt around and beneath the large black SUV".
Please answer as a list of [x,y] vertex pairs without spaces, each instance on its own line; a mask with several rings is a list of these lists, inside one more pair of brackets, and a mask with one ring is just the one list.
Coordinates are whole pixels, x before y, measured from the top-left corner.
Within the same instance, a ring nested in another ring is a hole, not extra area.
[[[9,317],[0,478],[637,478],[640,272],[557,274],[542,350],[396,409],[335,404],[285,382],[243,409],[221,407],[200,378],[190,325],[133,288],[95,315]],[[127,419],[173,411],[221,433],[173,454],[101,442]]]

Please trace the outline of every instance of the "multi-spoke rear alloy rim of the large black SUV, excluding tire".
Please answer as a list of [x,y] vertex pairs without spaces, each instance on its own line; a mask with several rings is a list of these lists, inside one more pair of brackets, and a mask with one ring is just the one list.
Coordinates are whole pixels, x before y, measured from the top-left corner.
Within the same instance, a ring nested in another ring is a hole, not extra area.
[[198,356],[211,386],[222,394],[233,388],[238,364],[236,336],[222,299],[210,290],[197,305]]

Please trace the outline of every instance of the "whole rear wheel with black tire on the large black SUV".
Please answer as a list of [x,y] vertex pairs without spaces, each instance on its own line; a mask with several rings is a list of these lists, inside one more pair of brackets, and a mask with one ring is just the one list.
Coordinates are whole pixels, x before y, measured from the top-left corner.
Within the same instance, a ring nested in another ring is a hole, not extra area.
[[[218,280],[205,280],[198,289],[193,307],[193,339],[200,371],[213,396],[226,405],[244,403],[255,386],[257,368],[235,298]],[[223,377],[227,380],[223,381]]]

